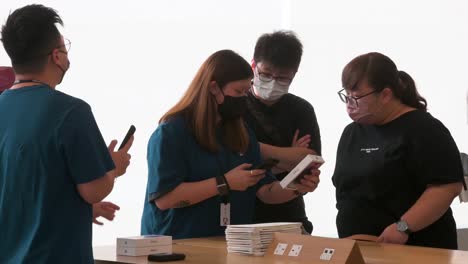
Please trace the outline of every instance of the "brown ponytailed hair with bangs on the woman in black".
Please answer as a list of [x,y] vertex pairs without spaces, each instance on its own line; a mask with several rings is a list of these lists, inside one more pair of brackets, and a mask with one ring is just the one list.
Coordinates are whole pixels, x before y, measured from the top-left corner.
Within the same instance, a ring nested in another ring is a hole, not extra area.
[[399,71],[395,63],[381,53],[360,55],[345,66],[341,75],[343,88],[356,90],[362,81],[367,81],[376,91],[390,88],[403,104],[427,111],[427,101],[418,93],[413,78]]

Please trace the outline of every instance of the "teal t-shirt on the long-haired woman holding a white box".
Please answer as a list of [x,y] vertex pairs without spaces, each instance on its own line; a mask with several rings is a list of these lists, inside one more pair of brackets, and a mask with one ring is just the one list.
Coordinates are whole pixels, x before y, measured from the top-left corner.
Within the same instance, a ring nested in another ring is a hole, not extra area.
[[[160,210],[154,200],[182,182],[213,178],[242,163],[259,164],[258,142],[251,131],[249,136],[249,147],[244,154],[225,148],[212,153],[197,143],[182,117],[161,124],[148,143],[148,182],[141,234],[171,235],[174,239],[224,235],[225,228],[220,226],[219,196],[168,210]],[[231,191],[231,224],[253,222],[256,192],[260,186],[273,180],[268,175],[246,191]]]

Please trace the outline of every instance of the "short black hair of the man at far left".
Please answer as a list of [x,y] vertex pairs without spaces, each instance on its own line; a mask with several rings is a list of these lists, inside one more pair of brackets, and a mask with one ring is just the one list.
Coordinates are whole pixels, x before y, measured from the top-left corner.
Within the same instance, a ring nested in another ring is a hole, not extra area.
[[43,70],[48,55],[57,47],[62,19],[52,8],[27,5],[11,13],[2,27],[2,42],[16,73]]

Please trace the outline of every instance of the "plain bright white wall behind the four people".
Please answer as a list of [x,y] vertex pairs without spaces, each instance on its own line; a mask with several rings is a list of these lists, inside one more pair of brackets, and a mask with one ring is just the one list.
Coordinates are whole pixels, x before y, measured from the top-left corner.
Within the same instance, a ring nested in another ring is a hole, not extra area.
[[[3,25],[30,1],[2,0]],[[304,55],[291,92],[315,107],[322,133],[321,184],[307,195],[314,234],[336,236],[330,177],[336,146],[350,122],[336,92],[341,70],[370,51],[390,56],[416,80],[430,112],[468,152],[466,70],[468,2],[463,0],[135,0],[42,1],[59,11],[72,41],[71,68],[58,89],[86,100],[106,141],[137,127],[132,164],[106,199],[121,206],[116,219],[95,226],[94,245],[139,234],[147,168],[146,144],[160,116],[182,95],[214,51],[233,49],[250,61],[265,32],[292,29]],[[0,50],[0,65],[10,65]],[[468,205],[452,206],[468,227]],[[73,228],[73,227],[70,227]]]

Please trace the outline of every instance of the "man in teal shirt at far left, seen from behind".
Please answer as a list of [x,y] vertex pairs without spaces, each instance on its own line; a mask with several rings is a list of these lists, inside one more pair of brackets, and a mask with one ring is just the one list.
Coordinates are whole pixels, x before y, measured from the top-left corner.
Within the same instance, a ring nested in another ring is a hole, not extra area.
[[108,149],[90,106],[55,90],[70,65],[56,23],[29,5],[2,27],[16,81],[0,95],[0,263],[94,263],[92,204],[129,164],[132,140]]

